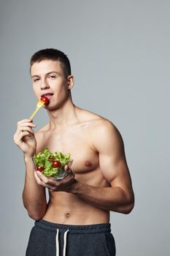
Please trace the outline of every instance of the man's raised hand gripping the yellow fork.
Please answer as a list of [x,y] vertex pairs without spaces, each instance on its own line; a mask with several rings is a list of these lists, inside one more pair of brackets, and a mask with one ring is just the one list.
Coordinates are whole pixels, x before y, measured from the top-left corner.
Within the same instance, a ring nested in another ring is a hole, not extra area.
[[36,127],[31,119],[18,121],[18,127],[14,135],[15,144],[29,157],[36,153],[36,138],[33,128]]

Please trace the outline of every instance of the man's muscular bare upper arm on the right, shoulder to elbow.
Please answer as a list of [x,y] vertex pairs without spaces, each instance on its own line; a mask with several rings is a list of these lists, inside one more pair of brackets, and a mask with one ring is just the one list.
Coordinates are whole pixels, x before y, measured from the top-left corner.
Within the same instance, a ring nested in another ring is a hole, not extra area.
[[120,187],[125,192],[129,192],[131,176],[120,132],[112,124],[109,124],[102,133],[100,143],[98,143],[101,172],[112,187]]

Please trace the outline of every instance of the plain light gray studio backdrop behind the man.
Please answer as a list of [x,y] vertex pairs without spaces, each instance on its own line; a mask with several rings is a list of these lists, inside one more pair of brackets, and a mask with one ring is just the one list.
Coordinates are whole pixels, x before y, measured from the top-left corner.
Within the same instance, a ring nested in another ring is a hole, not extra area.
[[[36,105],[29,59],[50,47],[69,56],[74,103],[123,136],[136,206],[111,214],[117,256],[169,255],[169,10],[168,0],[1,0],[1,256],[25,255],[34,224],[12,138]],[[34,121],[42,127],[45,111]]]

